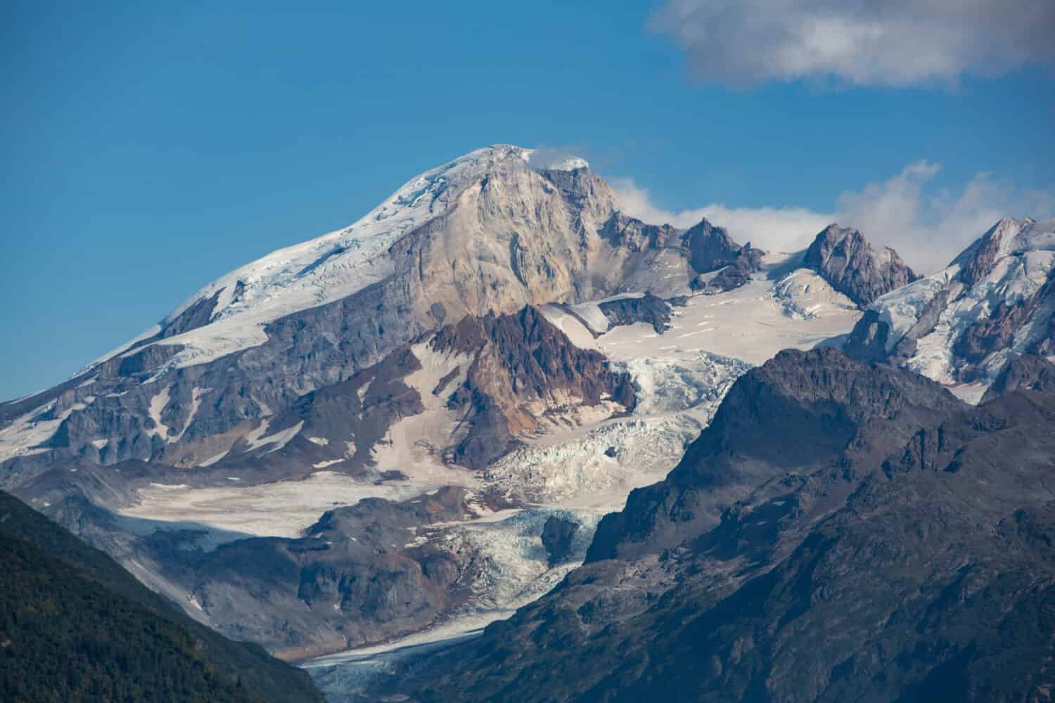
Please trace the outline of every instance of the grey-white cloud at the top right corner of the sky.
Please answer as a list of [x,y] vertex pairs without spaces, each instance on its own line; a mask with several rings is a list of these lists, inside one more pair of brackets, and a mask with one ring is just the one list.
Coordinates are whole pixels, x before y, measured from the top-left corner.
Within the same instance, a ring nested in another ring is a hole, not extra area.
[[703,80],[955,82],[1055,59],[1052,0],[668,0],[653,16]]

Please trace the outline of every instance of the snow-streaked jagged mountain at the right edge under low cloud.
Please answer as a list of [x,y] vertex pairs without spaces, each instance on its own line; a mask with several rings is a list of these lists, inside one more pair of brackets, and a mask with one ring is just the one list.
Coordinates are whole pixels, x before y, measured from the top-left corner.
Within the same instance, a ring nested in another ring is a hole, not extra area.
[[1055,220],[1003,218],[942,271],[875,300],[844,345],[977,402],[1017,354],[1055,354]]

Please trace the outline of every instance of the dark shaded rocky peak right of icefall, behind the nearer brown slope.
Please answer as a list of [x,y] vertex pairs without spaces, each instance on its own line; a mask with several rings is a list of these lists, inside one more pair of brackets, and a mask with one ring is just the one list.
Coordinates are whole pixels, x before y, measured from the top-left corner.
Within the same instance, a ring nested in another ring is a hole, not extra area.
[[717,523],[755,486],[851,447],[881,457],[934,417],[960,407],[938,384],[868,367],[833,349],[783,351],[741,376],[667,480],[631,492],[597,528],[587,561],[655,553]]

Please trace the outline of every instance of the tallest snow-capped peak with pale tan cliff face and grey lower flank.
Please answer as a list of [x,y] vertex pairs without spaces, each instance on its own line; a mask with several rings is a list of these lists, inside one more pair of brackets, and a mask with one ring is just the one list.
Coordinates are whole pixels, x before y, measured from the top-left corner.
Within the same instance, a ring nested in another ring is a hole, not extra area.
[[619,215],[584,162],[535,168],[531,155],[478,150],[344,230],[220,277],[65,384],[0,407],[0,457],[22,457],[26,470],[59,454],[173,463],[173,445],[244,435],[467,315],[622,292],[669,297],[709,270],[694,266],[718,265],[697,253],[711,237]]

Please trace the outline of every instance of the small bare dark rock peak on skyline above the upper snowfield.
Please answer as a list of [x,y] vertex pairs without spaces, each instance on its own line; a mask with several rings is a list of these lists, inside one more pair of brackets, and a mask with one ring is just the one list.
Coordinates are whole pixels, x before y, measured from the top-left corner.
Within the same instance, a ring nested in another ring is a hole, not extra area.
[[874,249],[858,230],[829,224],[806,250],[803,263],[862,308],[919,279],[889,247]]

